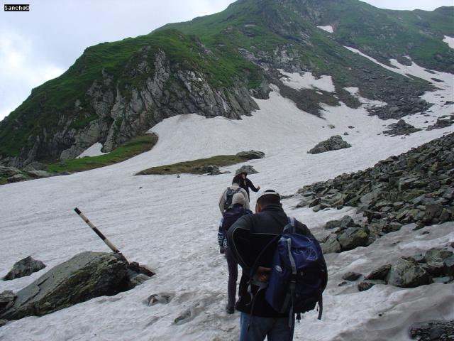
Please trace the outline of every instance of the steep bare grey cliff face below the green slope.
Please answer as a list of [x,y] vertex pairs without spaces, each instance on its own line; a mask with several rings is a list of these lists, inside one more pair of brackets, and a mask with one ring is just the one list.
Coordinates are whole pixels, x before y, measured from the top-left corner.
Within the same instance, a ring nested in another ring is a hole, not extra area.
[[258,109],[241,82],[235,87],[214,87],[204,72],[175,63],[164,50],[145,46],[123,70],[126,87],[102,70],[84,97],[55,122],[29,136],[19,156],[0,156],[0,164],[22,168],[39,160],[75,158],[95,143],[102,151],[140,136],[167,117],[201,114],[239,119]]

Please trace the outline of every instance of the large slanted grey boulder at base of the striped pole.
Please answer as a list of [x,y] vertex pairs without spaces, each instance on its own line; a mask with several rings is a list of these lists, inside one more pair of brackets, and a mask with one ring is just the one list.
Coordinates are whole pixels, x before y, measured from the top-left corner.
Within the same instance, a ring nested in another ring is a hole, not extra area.
[[120,254],[77,254],[18,291],[14,305],[0,318],[41,316],[97,296],[115,295],[124,290],[126,266],[126,259]]

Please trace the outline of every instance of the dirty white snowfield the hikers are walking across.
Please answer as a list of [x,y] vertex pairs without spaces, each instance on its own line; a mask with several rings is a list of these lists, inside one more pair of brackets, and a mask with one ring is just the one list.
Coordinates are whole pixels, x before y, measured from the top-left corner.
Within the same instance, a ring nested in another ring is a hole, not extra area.
[[[295,85],[301,82],[299,75],[287,77]],[[453,75],[450,77],[452,80]],[[327,89],[327,82],[322,87],[316,81],[304,86]],[[431,119],[453,111],[452,106],[443,105],[452,97],[452,82],[450,85],[425,95],[436,102]],[[182,174],[177,178],[134,173],[255,149],[265,152],[265,158],[245,163],[260,172],[250,175],[253,183],[287,195],[314,181],[373,166],[453,131],[453,127],[419,131],[405,139],[378,135],[386,129],[384,125],[395,120],[382,121],[368,116],[364,108],[345,105],[324,107],[321,119],[301,112],[280,96],[277,88],[273,90],[270,99],[256,100],[258,112],[238,121],[196,114],[166,119],[152,129],[159,135],[153,150],[123,163],[0,186],[0,274],[28,255],[44,261],[49,269],[81,251],[109,251],[77,217],[74,207],[79,207],[127,259],[156,272],[143,285],[114,297],[94,298],[40,318],[10,322],[0,328],[0,340],[238,340],[238,313],[227,315],[224,311],[227,265],[216,241],[218,197],[233,174]],[[345,131],[349,135],[343,138],[352,148],[307,153],[319,141]],[[222,171],[233,173],[239,166]],[[283,205],[289,215],[305,222],[319,236],[324,222],[354,214],[348,207],[317,213],[294,209],[296,198],[283,200]],[[305,314],[295,330],[295,340],[409,340],[406,331],[414,322],[453,319],[452,284],[411,289],[377,285],[362,293],[351,286],[338,286],[347,271],[367,274],[401,255],[453,242],[453,227],[447,223],[414,232],[410,225],[367,248],[328,254],[323,318],[317,320],[315,312]],[[425,230],[431,233],[422,234]],[[18,291],[44,271],[0,281],[0,292]],[[159,293],[172,296],[170,303],[148,306],[146,299]],[[181,315],[187,318],[175,323]]]

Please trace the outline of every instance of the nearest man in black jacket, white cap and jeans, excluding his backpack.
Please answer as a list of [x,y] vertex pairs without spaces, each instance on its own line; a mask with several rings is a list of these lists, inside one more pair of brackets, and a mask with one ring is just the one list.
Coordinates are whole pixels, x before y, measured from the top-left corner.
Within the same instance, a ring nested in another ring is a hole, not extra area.
[[[279,194],[275,190],[262,191],[255,205],[254,215],[244,215],[228,229],[227,239],[233,255],[243,268],[243,276],[250,273],[258,255],[260,257],[255,281],[267,282],[272,264],[275,247],[269,242],[281,234],[288,223],[287,215],[282,210]],[[308,237],[312,236],[306,225],[296,221],[297,231]],[[249,280],[249,278],[247,278]],[[241,312],[240,341],[293,340],[294,323],[289,326],[288,313],[278,313],[265,301],[265,291],[258,292],[258,286],[251,283],[248,293],[247,281],[240,281],[239,296],[236,309]],[[255,295],[257,293],[257,295]],[[254,302],[253,302],[254,299]]]

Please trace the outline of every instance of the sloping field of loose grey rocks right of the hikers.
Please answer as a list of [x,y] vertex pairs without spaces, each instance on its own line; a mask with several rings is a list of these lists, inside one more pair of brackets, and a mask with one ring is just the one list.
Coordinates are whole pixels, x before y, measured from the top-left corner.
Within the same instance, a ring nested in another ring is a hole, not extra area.
[[[314,211],[358,207],[370,244],[403,224],[417,227],[454,220],[454,134],[380,161],[365,171],[304,186],[297,207]],[[333,243],[333,237],[326,242]],[[334,243],[336,244],[336,243]]]

